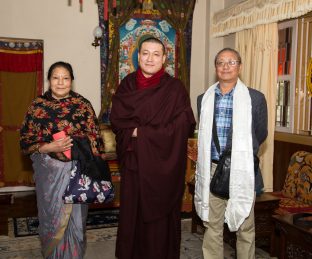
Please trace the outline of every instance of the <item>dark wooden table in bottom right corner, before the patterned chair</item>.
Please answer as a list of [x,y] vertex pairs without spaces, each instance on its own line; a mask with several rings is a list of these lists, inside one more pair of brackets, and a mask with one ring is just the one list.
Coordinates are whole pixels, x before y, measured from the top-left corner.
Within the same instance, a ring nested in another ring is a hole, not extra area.
[[[274,247],[272,255],[279,259],[312,258],[312,227],[309,224],[296,223],[300,214],[274,215]],[[311,216],[312,217],[312,212]]]

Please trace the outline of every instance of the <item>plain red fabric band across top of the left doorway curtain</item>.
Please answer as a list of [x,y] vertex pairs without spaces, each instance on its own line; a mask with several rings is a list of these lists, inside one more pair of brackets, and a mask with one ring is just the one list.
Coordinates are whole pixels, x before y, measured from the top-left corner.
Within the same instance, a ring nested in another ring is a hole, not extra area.
[[0,71],[5,72],[42,72],[43,53],[41,51],[0,52]]

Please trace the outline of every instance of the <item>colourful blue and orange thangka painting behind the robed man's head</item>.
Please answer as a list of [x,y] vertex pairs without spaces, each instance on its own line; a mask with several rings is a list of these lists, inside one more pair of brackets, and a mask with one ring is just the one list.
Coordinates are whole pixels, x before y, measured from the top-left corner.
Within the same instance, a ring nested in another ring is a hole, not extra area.
[[138,68],[138,43],[145,34],[153,35],[164,43],[167,56],[165,70],[176,76],[176,30],[165,20],[131,18],[119,28],[119,82]]

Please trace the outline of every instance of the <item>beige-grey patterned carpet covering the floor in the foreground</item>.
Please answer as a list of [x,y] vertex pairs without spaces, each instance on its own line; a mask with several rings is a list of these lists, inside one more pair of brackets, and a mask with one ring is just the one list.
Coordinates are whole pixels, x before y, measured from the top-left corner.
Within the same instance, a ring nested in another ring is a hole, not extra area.
[[[9,222],[9,232],[13,228]],[[13,230],[12,230],[13,232]],[[87,230],[87,251],[84,259],[115,259],[117,228],[99,228]],[[182,220],[180,259],[203,259],[203,233],[191,233],[191,221]],[[40,241],[37,235],[27,237],[0,236],[1,259],[39,259]],[[224,245],[224,259],[234,259],[234,250]],[[261,249],[256,249],[256,259],[271,258]]]

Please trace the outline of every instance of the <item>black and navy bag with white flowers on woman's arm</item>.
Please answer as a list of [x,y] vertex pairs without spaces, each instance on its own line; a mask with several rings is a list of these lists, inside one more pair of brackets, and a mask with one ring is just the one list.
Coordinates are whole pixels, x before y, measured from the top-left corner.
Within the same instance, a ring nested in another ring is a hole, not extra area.
[[107,203],[114,199],[114,186],[107,161],[94,156],[86,138],[73,138],[69,183],[64,203]]

